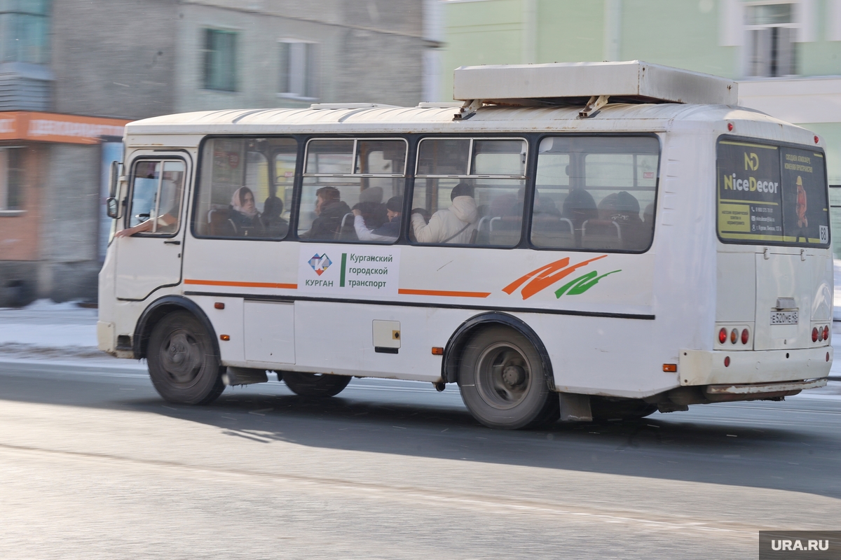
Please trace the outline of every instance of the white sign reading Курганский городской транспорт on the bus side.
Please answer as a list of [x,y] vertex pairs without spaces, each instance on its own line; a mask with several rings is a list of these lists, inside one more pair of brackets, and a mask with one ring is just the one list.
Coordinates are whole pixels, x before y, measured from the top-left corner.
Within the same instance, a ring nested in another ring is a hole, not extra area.
[[343,296],[396,296],[400,249],[301,243],[298,290]]

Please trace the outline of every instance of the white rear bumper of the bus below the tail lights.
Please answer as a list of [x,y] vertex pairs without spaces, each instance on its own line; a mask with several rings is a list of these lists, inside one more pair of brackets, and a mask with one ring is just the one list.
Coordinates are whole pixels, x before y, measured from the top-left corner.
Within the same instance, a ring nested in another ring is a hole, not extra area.
[[[828,359],[827,359],[828,356]],[[724,359],[729,358],[729,365]],[[681,350],[680,385],[733,385],[827,377],[833,347],[792,350]]]

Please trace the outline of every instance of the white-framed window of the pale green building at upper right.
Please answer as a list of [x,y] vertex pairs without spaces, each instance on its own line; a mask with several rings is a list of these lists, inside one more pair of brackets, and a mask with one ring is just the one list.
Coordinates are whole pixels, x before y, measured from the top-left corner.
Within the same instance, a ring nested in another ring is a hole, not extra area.
[[796,74],[794,4],[745,6],[748,76],[777,77]]

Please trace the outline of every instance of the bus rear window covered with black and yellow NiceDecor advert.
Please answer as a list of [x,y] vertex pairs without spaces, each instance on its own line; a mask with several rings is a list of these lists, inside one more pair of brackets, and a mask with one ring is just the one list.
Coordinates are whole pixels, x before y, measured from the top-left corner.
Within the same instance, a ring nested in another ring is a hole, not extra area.
[[721,139],[717,186],[723,242],[828,246],[826,168],[816,149]]

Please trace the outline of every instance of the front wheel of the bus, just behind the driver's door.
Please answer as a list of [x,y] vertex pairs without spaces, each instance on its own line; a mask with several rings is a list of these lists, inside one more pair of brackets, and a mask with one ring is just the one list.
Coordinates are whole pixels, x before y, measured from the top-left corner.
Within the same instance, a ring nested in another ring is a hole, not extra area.
[[206,405],[225,390],[225,368],[211,335],[189,311],[173,311],[157,322],[146,361],[152,385],[169,402]]

